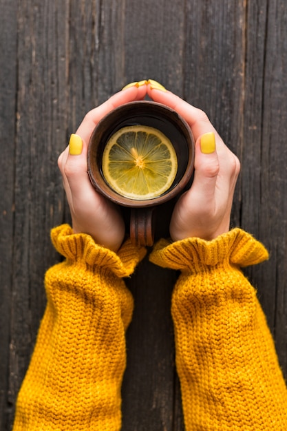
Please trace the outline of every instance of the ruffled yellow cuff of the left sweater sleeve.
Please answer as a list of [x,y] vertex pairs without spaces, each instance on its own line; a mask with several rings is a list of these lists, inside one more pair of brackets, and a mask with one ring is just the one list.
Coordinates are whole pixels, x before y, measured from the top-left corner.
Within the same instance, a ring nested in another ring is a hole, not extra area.
[[114,253],[96,244],[86,233],[73,233],[69,224],[52,229],[51,239],[56,251],[67,260],[87,264],[91,269],[109,269],[118,277],[131,275],[146,254],[144,247],[136,247],[130,240],[123,243],[118,253]]

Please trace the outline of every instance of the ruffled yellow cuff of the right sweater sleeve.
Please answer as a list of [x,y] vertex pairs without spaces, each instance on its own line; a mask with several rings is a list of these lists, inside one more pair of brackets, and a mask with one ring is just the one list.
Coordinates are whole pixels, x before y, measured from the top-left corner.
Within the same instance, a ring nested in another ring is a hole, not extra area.
[[160,240],[149,260],[163,268],[198,272],[206,266],[229,262],[241,267],[254,265],[268,259],[268,251],[252,235],[236,228],[206,241],[187,238],[170,244]]

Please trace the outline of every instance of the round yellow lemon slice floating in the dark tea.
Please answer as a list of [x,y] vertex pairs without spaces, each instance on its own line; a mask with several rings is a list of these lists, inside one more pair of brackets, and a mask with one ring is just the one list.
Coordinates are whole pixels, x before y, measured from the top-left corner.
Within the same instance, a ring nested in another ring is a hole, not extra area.
[[127,126],[109,138],[103,151],[103,176],[120,195],[146,200],[171,187],[178,159],[171,141],[158,129]]

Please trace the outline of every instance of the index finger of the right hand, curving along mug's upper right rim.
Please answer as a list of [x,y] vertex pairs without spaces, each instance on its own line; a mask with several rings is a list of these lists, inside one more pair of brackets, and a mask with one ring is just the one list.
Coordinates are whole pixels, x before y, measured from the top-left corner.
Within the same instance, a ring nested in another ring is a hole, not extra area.
[[153,101],[167,105],[178,112],[191,127],[195,140],[197,140],[200,135],[207,132],[213,132],[215,135],[219,136],[205,112],[189,105],[189,103],[183,101],[182,98],[176,96],[176,94],[157,89],[151,90],[150,85],[147,86],[147,93]]

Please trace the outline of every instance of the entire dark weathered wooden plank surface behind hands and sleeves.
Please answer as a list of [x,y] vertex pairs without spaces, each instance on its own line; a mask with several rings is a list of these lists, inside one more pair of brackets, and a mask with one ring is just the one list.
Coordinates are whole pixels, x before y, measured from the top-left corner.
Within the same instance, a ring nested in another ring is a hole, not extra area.
[[[56,160],[84,114],[153,78],[204,109],[242,161],[233,226],[270,260],[257,286],[287,376],[286,0],[0,0],[0,429],[59,261],[50,229],[69,220]],[[169,314],[172,271],[145,261],[129,287],[123,430],[183,430]]]

